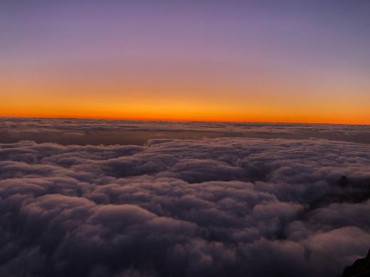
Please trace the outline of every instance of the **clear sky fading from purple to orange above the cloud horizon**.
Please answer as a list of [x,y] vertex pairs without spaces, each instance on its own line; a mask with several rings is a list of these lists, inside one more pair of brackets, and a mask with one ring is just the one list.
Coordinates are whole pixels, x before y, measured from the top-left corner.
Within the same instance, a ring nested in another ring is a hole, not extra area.
[[0,1],[0,116],[370,124],[370,1]]

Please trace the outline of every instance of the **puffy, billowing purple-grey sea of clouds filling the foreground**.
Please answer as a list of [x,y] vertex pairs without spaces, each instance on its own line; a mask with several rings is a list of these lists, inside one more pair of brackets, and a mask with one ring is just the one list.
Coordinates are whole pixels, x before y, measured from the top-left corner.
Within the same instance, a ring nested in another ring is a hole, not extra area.
[[314,139],[2,143],[0,275],[337,276],[370,247],[369,162]]

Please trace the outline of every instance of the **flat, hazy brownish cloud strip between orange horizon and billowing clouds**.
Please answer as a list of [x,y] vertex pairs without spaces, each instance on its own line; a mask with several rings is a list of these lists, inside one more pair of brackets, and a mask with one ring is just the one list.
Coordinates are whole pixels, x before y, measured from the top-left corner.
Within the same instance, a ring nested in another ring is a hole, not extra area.
[[327,139],[370,143],[370,125],[0,118],[0,143],[144,145],[149,139]]

